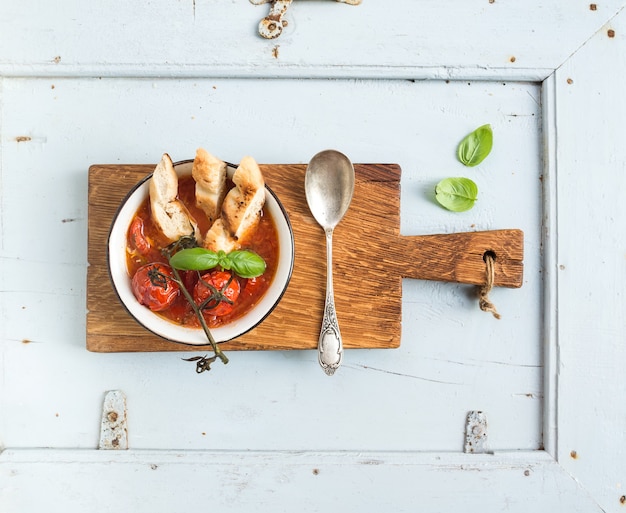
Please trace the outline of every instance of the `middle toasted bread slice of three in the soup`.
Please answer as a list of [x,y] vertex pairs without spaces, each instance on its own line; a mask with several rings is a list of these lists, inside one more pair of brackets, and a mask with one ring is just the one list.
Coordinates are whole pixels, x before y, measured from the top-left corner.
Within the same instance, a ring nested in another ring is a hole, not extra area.
[[198,148],[191,174],[196,181],[196,204],[213,223],[226,196],[226,163]]

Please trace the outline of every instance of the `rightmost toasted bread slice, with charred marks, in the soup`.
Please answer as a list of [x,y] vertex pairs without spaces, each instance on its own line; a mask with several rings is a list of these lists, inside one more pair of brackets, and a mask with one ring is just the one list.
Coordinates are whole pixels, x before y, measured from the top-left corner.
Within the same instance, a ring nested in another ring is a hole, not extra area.
[[265,205],[265,180],[252,157],[244,157],[233,175],[233,187],[222,203],[221,217],[213,223],[204,246],[213,251],[241,247],[256,229]]

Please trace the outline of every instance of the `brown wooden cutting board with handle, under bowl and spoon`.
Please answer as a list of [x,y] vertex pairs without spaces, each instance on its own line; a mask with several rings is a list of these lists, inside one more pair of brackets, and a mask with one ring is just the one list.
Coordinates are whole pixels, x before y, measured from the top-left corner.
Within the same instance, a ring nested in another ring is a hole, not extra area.
[[[520,230],[400,235],[400,167],[355,164],[354,199],[333,237],[337,317],[346,348],[400,345],[402,278],[480,285],[485,252],[496,255],[495,285],[520,287]],[[96,352],[202,351],[145,330],[119,303],[109,281],[106,246],[113,216],[126,193],[154,165],[94,165],[89,169],[87,349]],[[226,350],[315,349],[326,285],[323,230],[309,212],[302,164],[262,165],[294,231],[295,263],[280,304],[257,328],[222,344]],[[476,309],[476,315],[486,315]],[[208,348],[208,346],[207,346]]]

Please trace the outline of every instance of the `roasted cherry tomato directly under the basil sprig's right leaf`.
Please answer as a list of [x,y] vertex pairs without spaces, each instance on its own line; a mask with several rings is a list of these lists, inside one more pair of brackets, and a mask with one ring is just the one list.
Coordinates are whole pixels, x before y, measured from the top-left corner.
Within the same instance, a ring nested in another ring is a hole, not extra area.
[[240,291],[239,281],[231,273],[212,271],[200,277],[193,290],[193,297],[198,305],[206,302],[205,312],[220,317],[233,311]]

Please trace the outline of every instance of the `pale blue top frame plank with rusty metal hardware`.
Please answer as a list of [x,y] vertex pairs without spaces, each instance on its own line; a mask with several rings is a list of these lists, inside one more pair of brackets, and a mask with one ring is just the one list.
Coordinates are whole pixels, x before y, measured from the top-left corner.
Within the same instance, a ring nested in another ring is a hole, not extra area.
[[[105,1],[79,9],[63,0],[36,12],[28,5],[10,3],[0,18],[5,76],[542,80],[624,2],[606,0],[591,10],[588,4],[573,8],[542,0],[506,6],[451,0],[442,14],[438,3],[408,0],[392,8],[375,1],[359,6],[296,1],[276,40],[262,39],[257,31],[269,7],[247,1],[155,0],[150,9]],[[163,13],[169,26],[181,28],[174,38],[154,30]],[[434,22],[442,16],[445,23]],[[132,22],[132,30],[120,20]],[[559,44],[541,44],[554,40],[555,27]],[[26,41],[25,31],[31,34]],[[337,44],[346,31],[350,44]],[[529,38],[537,44],[529,45]],[[202,52],[191,50],[199,48]]]

